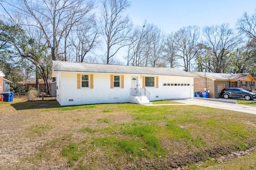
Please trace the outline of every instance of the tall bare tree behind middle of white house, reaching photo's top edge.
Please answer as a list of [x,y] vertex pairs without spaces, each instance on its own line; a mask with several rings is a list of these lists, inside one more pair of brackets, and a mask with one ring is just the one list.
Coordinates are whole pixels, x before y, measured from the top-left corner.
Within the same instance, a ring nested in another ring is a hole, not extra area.
[[[126,8],[130,6],[128,0],[102,0],[100,24],[104,39],[107,44],[107,60],[113,57],[119,49],[128,45],[128,33],[131,22],[128,16],[124,16]],[[110,54],[111,49],[116,49]]]

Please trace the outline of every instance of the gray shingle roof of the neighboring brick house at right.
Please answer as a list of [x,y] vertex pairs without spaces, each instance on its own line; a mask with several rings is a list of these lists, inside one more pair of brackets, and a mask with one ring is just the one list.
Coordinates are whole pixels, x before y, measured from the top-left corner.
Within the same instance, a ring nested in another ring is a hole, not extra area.
[[224,73],[215,73],[215,72],[192,72],[209,78],[214,78],[218,80],[242,80],[250,73],[238,73],[238,74],[224,74]]

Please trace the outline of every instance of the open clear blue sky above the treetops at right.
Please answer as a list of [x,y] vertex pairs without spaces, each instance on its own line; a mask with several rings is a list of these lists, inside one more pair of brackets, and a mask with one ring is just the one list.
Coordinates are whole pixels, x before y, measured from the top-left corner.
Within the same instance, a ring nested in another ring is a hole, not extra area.
[[130,0],[127,10],[135,25],[144,20],[166,33],[182,27],[229,23],[234,27],[244,12],[253,14],[256,0]]

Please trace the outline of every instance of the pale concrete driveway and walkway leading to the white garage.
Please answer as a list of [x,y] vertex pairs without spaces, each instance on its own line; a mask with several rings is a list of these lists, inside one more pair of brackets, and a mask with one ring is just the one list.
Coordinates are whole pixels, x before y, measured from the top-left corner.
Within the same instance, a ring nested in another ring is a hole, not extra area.
[[[230,103],[230,100],[225,100],[225,99],[214,99],[214,100],[215,101],[204,100],[204,98],[179,99],[179,100],[172,100],[172,101],[180,102],[182,104],[162,104],[162,105],[198,105],[198,106],[206,106],[206,107],[213,107],[213,108],[218,108],[218,109],[226,109],[226,110],[256,114],[255,106],[236,104],[236,101],[235,101],[235,103],[234,102]],[[150,104],[150,105],[146,105],[146,106],[159,106],[159,105],[158,104],[155,104],[155,105]]]

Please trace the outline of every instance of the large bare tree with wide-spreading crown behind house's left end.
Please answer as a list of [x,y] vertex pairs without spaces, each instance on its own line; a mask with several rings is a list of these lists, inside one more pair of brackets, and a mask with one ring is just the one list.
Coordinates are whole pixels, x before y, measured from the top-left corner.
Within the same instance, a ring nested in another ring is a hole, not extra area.
[[[93,2],[86,3],[84,0],[6,0],[6,3],[13,8],[13,12],[26,18],[21,20],[22,25],[42,30],[46,45],[51,49],[52,60],[60,55],[64,55],[64,59],[60,59],[65,60],[66,38],[70,30],[94,8]],[[63,38],[64,54],[61,54]]]

